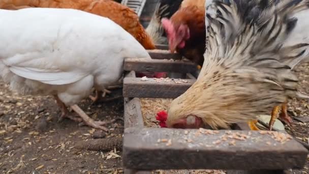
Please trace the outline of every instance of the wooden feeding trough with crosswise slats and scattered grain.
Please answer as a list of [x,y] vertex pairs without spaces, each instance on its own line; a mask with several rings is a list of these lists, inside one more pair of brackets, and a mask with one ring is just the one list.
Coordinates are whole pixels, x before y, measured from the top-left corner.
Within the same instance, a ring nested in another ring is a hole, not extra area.
[[[194,83],[196,65],[168,51],[150,51],[154,60],[126,60],[123,79],[125,173],[151,173],[156,169],[223,169],[227,173],[287,173],[302,168],[307,150],[285,132],[250,131],[245,123],[238,130],[167,129],[144,127],[139,98],[176,98]],[[181,72],[187,79],[148,78],[135,71]],[[180,81],[179,83],[175,80]],[[184,81],[184,82],[181,82]],[[153,115],[154,117],[154,115]],[[186,172],[184,172],[186,173]],[[189,172],[187,172],[189,173]]]

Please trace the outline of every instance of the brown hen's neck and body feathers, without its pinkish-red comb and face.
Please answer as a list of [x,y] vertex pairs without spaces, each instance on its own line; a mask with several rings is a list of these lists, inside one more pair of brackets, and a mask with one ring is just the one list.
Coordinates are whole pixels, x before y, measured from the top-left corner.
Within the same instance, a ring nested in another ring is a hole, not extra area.
[[176,51],[200,66],[204,62],[206,38],[204,4],[205,0],[183,1],[180,9],[171,17],[175,28],[180,24],[186,24],[190,30],[190,39],[186,41],[186,46],[177,48]]

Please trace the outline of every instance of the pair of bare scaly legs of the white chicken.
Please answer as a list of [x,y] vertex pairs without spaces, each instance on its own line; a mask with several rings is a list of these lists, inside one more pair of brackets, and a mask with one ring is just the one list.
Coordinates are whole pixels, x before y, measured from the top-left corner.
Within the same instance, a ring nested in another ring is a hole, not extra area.
[[102,122],[102,121],[94,121],[92,120],[79,106],[77,106],[76,104],[71,106],[72,110],[74,110],[79,117],[81,118],[77,118],[77,117],[73,117],[72,115],[69,114],[69,111],[66,107],[66,105],[58,98],[57,95],[54,95],[54,98],[57,102],[57,105],[60,107],[61,109],[61,115],[60,118],[58,119],[58,122],[62,121],[64,118],[68,118],[71,120],[74,120],[76,122],[84,122],[85,125],[90,126],[92,128],[96,128],[96,129],[102,129],[106,132],[108,132],[109,130],[104,127],[103,125],[106,125],[108,123],[111,122]]

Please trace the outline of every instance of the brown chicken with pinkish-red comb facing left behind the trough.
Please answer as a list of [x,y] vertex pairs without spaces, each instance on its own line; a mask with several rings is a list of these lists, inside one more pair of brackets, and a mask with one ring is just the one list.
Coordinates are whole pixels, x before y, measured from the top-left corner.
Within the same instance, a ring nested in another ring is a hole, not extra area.
[[162,25],[171,52],[175,50],[202,66],[205,52],[205,0],[184,0],[179,10]]

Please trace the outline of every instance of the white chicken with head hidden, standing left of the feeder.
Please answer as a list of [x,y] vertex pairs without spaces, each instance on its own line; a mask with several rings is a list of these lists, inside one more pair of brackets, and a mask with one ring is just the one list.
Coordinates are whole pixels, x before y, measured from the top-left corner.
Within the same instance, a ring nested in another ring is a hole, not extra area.
[[[0,76],[21,95],[53,95],[69,119],[108,131],[76,103],[121,77],[123,60],[150,59],[108,18],[73,9],[0,10]],[[81,118],[72,117],[70,106]]]

